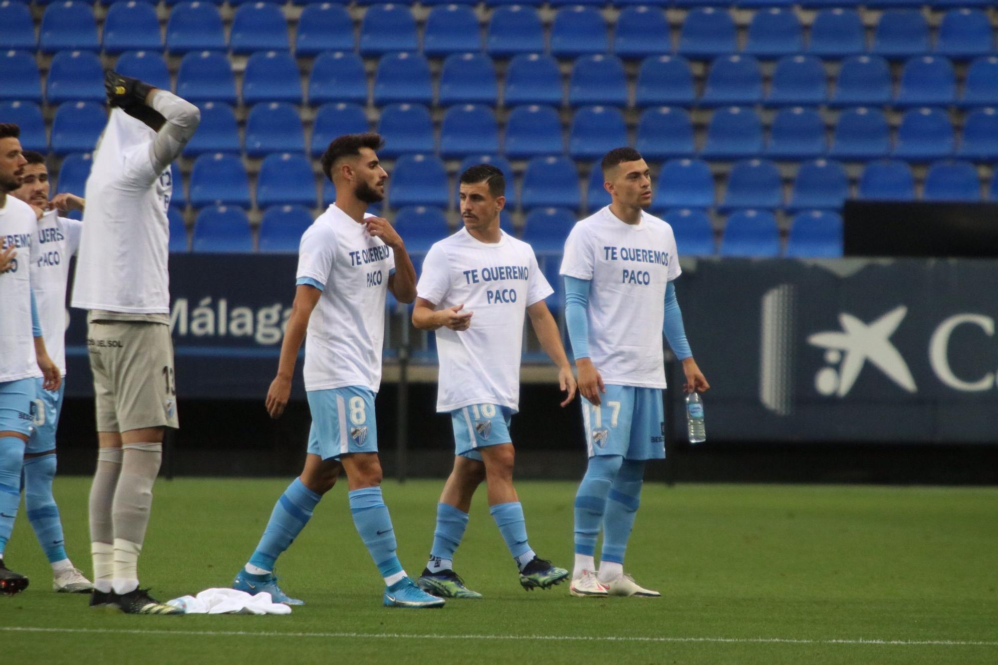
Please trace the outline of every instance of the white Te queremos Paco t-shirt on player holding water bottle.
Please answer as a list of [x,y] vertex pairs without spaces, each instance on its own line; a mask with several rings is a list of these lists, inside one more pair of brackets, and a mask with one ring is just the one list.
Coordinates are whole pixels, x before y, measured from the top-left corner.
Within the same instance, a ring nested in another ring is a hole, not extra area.
[[591,281],[589,350],[605,383],[666,387],[666,285],[681,273],[673,228],[648,213],[630,225],[607,206],[572,229],[561,274]]

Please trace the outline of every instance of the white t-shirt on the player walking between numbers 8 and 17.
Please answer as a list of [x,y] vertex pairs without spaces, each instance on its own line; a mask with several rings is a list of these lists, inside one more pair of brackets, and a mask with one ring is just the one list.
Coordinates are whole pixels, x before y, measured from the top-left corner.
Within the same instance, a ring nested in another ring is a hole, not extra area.
[[498,243],[461,229],[430,248],[416,293],[437,310],[464,305],[471,326],[436,331],[437,410],[492,403],[520,407],[520,360],[527,308],[553,294],[534,250],[505,232]]

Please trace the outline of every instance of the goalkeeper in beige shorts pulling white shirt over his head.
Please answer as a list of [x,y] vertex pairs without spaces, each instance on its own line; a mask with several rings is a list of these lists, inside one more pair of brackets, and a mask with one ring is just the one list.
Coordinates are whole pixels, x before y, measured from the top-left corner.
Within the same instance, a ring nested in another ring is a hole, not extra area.
[[73,307],[87,310],[100,449],[90,490],[92,607],[174,614],[139,588],[163,436],[178,427],[167,256],[170,164],[198,107],[108,72],[111,115],[87,179]]

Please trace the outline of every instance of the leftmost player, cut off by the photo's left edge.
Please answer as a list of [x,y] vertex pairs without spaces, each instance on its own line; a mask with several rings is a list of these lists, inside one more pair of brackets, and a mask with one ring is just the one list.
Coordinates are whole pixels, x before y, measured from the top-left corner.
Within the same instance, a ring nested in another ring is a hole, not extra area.
[[0,592],[17,593],[28,578],[8,569],[3,554],[21,503],[24,449],[40,423],[36,378],[58,390],[62,377],[49,357],[31,285],[38,216],[8,193],[21,186],[27,161],[20,128],[0,124]]

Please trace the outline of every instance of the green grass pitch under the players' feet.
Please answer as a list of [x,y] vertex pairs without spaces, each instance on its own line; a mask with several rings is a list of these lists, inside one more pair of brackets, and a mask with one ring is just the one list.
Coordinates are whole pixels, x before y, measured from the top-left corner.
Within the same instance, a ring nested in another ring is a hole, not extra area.
[[[402,563],[422,569],[442,481],[385,483]],[[166,600],[227,586],[286,480],[159,481],[140,561]],[[71,557],[90,571],[89,479],[60,477]],[[520,482],[531,544],[572,563],[575,485]],[[288,616],[124,616],[51,591],[22,508],[0,597],[3,663],[995,663],[998,489],[646,483],[627,568],[658,600],[524,592],[484,490],[456,567],[484,600],[380,606],[335,487],[278,562]],[[883,641],[883,642],[877,642]]]

